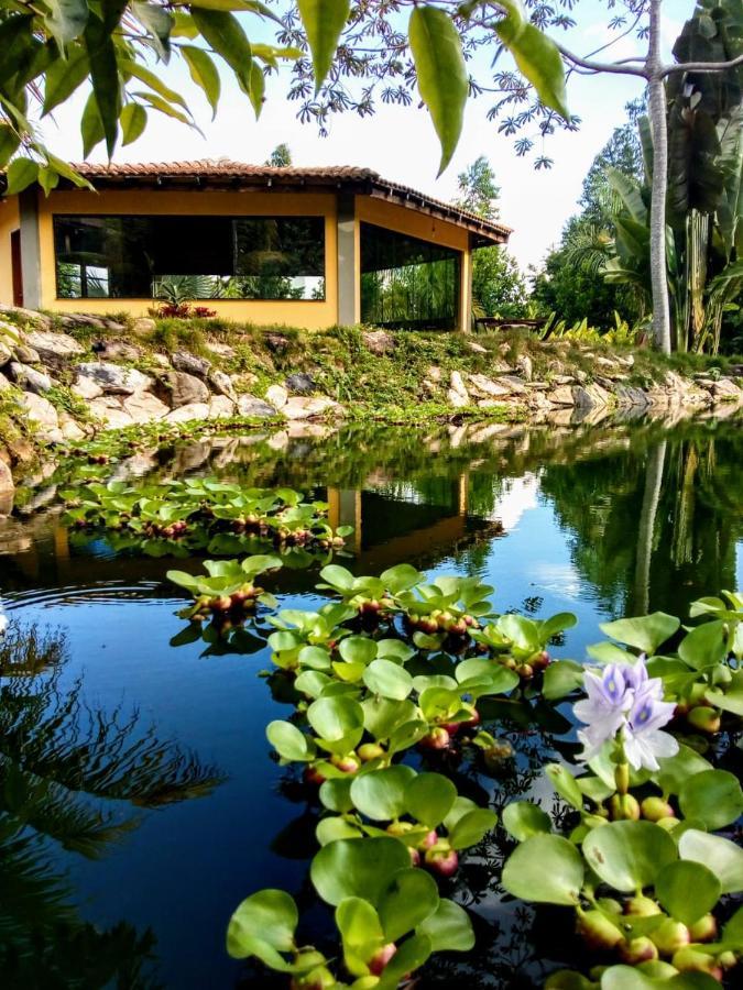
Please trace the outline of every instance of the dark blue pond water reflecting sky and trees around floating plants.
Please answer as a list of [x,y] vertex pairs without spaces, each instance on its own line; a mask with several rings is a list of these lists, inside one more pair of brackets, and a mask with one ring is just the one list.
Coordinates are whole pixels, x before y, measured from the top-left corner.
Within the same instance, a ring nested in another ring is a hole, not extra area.
[[[499,612],[575,613],[557,657],[583,660],[607,619],[686,616],[695,598],[743,585],[740,421],[318,427],[140,451],[113,470],[215,474],[327,499],[332,525],[353,526],[338,562],[356,573],[406,561],[477,574],[494,585]],[[61,480],[70,483],[59,471],[36,479],[0,522],[3,604],[35,650],[23,675],[0,676],[3,801],[34,805],[20,837],[0,832],[0,939],[3,928],[52,923],[43,949],[2,983],[99,987],[116,972],[128,987],[267,987],[226,955],[237,904],[281,888],[318,937],[325,925],[306,876],[317,813],[265,739],[266,724],[292,711],[266,681],[270,650],[179,637],[184,596],[165,572],[197,571],[198,560],[68,531],[54,501]],[[316,566],[285,570],[271,590],[284,607],[307,607],[320,600],[317,581]],[[510,738],[515,770],[460,790],[492,792],[496,806],[526,793],[549,807],[538,768],[551,744]],[[56,783],[31,793],[26,766]],[[553,959],[565,961],[531,909],[501,902],[501,861],[499,849],[481,850],[451,883],[481,920],[478,949],[465,964],[445,954],[418,986],[537,987]]]

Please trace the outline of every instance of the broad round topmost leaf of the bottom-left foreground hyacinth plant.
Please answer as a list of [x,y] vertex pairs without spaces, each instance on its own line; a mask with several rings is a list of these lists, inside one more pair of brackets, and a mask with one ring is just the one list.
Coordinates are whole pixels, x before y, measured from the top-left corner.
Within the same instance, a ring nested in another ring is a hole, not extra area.
[[328,904],[338,905],[345,898],[378,904],[394,873],[409,867],[407,847],[395,838],[339,839],[319,850],[309,875]]

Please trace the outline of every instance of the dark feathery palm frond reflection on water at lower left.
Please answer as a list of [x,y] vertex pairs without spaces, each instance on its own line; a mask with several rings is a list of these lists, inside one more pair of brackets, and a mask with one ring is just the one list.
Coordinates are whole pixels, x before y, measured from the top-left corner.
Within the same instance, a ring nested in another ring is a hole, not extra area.
[[84,921],[56,850],[99,859],[140,812],[204,798],[217,767],[121,707],[64,683],[65,638],[11,625],[0,639],[0,974],[7,988],[156,987],[152,932]]

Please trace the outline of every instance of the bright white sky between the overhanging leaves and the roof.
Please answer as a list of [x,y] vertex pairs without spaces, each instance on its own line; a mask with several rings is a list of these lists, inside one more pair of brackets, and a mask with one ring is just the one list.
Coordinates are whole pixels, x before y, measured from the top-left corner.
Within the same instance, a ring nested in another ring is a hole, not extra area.
[[[579,55],[586,55],[610,41],[614,34],[607,24],[609,0],[580,0],[573,10],[578,26],[560,32],[560,41]],[[621,2],[618,4],[621,6]],[[693,10],[693,0],[665,0],[663,43],[665,57],[684,21]],[[245,28],[254,41],[255,19]],[[260,40],[269,40],[264,33]],[[643,53],[643,43],[631,37],[616,43],[602,58],[626,58]],[[505,65],[505,63],[504,63]],[[571,113],[580,117],[578,132],[559,132],[544,143],[545,154],[554,158],[549,170],[535,172],[533,157],[518,158],[513,139],[498,133],[498,121],[487,120],[490,101],[482,97],[469,101],[462,135],[447,170],[437,179],[439,146],[428,112],[413,105],[407,108],[378,103],[374,117],[360,119],[353,113],[337,114],[327,138],[320,138],[314,124],[296,119],[297,103],[286,100],[288,74],[273,76],[266,88],[266,103],[255,120],[247,98],[231,80],[225,81],[216,120],[199,90],[183,68],[167,70],[170,85],[183,92],[203,134],[152,113],[143,136],[119,148],[116,162],[173,162],[184,158],[220,158],[260,164],[280,143],[287,143],[295,165],[358,165],[372,168],[393,182],[412,186],[438,199],[457,196],[457,175],[484,154],[501,187],[501,220],[514,229],[511,250],[524,271],[538,265],[551,244],[559,241],[566,220],[576,211],[581,183],[594,155],[624,122],[625,103],[640,96],[642,80],[631,76],[573,76],[568,85]],[[226,77],[223,76],[223,79]],[[44,127],[51,148],[69,161],[81,161],[79,116],[86,98],[80,90],[54,122]],[[539,143],[537,143],[537,150]],[[102,146],[90,161],[105,161]]]

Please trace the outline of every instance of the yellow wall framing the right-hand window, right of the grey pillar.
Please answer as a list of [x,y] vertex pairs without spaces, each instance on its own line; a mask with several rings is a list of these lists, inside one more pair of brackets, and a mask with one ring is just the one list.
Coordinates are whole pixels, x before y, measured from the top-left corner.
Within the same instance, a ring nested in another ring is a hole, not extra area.
[[[396,206],[384,199],[372,196],[357,196],[356,216],[358,222],[375,223],[386,230],[396,230],[398,233],[420,238],[424,241],[433,241],[445,248],[454,248],[461,251],[460,284],[459,284],[459,318],[457,329],[467,332],[470,329],[471,300],[471,252],[470,235],[462,227],[419,213],[407,207]],[[357,251],[357,279],[361,279],[361,255]],[[360,295],[360,294],[359,294]],[[359,302],[360,306],[360,302]]]

